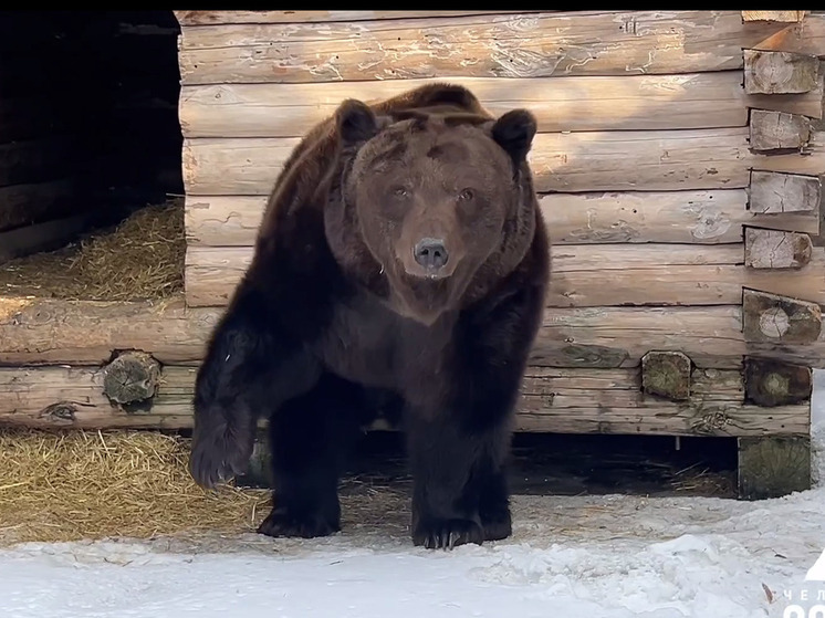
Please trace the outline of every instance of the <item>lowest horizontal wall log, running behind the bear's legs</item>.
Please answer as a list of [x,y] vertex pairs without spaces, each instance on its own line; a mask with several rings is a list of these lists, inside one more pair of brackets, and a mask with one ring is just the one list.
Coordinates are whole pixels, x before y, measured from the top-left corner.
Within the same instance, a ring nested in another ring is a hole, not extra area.
[[[97,367],[0,368],[0,426],[188,428],[196,369],[165,367],[155,396],[140,407],[104,395]],[[808,407],[744,404],[738,370],[696,370],[683,402],[646,397],[637,369],[528,368],[516,430],[571,433],[770,436],[806,433]]]

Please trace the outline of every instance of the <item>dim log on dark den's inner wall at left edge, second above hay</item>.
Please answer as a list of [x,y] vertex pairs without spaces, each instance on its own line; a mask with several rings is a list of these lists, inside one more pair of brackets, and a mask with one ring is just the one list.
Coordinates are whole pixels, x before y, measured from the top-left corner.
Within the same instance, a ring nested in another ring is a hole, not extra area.
[[74,196],[71,178],[0,187],[0,231],[76,211]]

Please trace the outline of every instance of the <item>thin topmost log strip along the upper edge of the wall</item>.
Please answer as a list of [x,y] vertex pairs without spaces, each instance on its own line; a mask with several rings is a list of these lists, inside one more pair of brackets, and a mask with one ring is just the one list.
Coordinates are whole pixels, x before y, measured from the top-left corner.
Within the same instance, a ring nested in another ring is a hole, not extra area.
[[[182,27],[219,25],[227,23],[373,21],[380,19],[411,19],[513,12],[515,11],[174,11],[178,23]],[[539,11],[520,12],[530,13]]]

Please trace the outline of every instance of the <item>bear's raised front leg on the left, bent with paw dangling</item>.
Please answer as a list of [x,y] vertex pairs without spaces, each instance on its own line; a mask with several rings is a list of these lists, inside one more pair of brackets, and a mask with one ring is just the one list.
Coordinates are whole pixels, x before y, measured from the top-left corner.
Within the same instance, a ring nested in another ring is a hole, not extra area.
[[246,471],[258,419],[312,388],[321,369],[293,332],[280,328],[261,293],[236,292],[195,384],[189,470],[203,488]]

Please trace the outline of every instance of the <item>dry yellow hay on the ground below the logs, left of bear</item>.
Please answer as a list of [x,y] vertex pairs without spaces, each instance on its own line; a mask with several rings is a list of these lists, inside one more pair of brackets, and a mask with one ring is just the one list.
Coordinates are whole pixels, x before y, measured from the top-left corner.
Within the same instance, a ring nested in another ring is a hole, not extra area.
[[249,532],[269,492],[208,492],[189,442],[150,431],[0,430],[0,544]]

